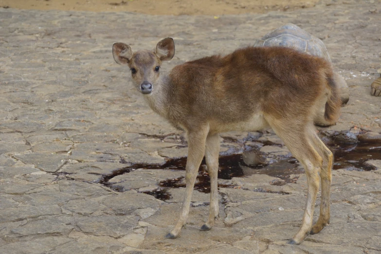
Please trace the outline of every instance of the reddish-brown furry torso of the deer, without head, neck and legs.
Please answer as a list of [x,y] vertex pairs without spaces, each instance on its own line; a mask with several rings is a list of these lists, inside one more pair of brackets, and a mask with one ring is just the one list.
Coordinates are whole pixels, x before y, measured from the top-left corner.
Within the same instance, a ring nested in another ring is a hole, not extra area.
[[175,67],[171,107],[181,109],[181,121],[220,124],[245,123],[261,114],[308,114],[331,72],[324,59],[289,48],[238,49]]

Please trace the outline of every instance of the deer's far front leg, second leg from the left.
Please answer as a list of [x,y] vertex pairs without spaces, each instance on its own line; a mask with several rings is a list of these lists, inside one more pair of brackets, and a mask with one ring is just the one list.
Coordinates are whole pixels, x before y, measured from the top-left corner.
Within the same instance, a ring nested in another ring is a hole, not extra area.
[[205,145],[205,161],[210,177],[210,207],[208,221],[201,226],[201,230],[210,230],[218,216],[218,134],[208,135]]

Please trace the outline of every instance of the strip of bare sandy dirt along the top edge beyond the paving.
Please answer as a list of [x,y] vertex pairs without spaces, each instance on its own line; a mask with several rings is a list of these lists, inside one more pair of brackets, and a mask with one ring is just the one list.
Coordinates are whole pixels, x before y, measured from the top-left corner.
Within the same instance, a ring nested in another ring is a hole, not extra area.
[[290,11],[312,7],[317,2],[318,0],[0,0],[0,7],[152,15],[222,15]]

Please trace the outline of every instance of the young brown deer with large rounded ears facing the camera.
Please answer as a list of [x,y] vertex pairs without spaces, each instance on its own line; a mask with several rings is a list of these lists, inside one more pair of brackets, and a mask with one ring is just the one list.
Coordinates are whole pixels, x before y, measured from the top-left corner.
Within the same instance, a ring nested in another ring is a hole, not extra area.
[[[218,133],[272,127],[292,155],[303,164],[308,197],[302,225],[288,241],[299,244],[329,222],[329,191],[333,155],[316,135],[313,116],[325,104],[325,118],[334,122],[341,105],[331,65],[322,58],[283,47],[247,47],[226,56],[213,55],[160,73],[162,61],[175,54],[172,38],[154,51],[132,53],[121,42],[112,54],[131,70],[136,88],[156,113],[188,137],[186,191],[181,214],[166,238],[179,236],[188,217],[200,163],[205,155],[210,176],[210,212],[201,230],[210,230],[218,216]],[[320,216],[312,226],[316,194],[322,182]]]

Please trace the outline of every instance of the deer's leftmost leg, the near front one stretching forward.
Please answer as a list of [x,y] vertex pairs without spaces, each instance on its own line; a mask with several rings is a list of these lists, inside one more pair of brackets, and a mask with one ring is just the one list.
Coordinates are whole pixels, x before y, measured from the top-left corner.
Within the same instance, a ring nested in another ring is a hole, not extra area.
[[182,201],[180,218],[177,221],[175,228],[168,233],[165,238],[176,238],[179,236],[181,228],[186,223],[188,218],[190,201],[192,198],[193,186],[195,185],[197,173],[204,157],[205,140],[209,129],[203,128],[198,131],[188,132],[188,158],[185,167],[185,196]]

